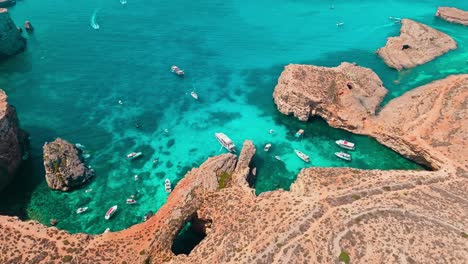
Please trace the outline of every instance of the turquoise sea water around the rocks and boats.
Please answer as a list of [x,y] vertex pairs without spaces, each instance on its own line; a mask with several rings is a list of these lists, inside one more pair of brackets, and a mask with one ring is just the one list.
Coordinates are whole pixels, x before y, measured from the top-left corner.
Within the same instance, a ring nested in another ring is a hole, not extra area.
[[[0,197],[0,211],[43,223],[57,218],[58,227],[71,232],[124,229],[165,203],[164,179],[174,185],[191,167],[222,153],[213,135],[218,131],[238,149],[245,139],[255,142],[257,193],[288,189],[307,166],[420,169],[367,137],[319,119],[302,123],[279,114],[272,92],[288,63],[371,67],[390,90],[387,100],[468,72],[468,29],[435,19],[440,4],[468,9],[468,2],[455,0],[18,2],[11,9],[14,20],[31,20],[36,30],[25,53],[0,63],[0,87],[32,136],[32,159]],[[389,16],[440,29],[459,49],[413,70],[389,69],[374,53],[398,33]],[[338,22],[345,25],[337,28]],[[185,78],[170,73],[173,64],[186,71]],[[199,101],[191,98],[192,89]],[[303,140],[293,136],[300,128]],[[80,190],[60,193],[45,184],[42,145],[55,137],[84,144],[91,154],[97,176]],[[357,143],[352,162],[333,156],[339,138]],[[265,153],[268,142],[273,147]],[[309,154],[311,164],[299,160],[295,148]],[[129,162],[131,151],[144,156]],[[85,193],[88,188],[93,191]],[[136,191],[139,203],[126,205]],[[118,212],[104,220],[114,204]],[[82,206],[90,209],[75,214]]]

